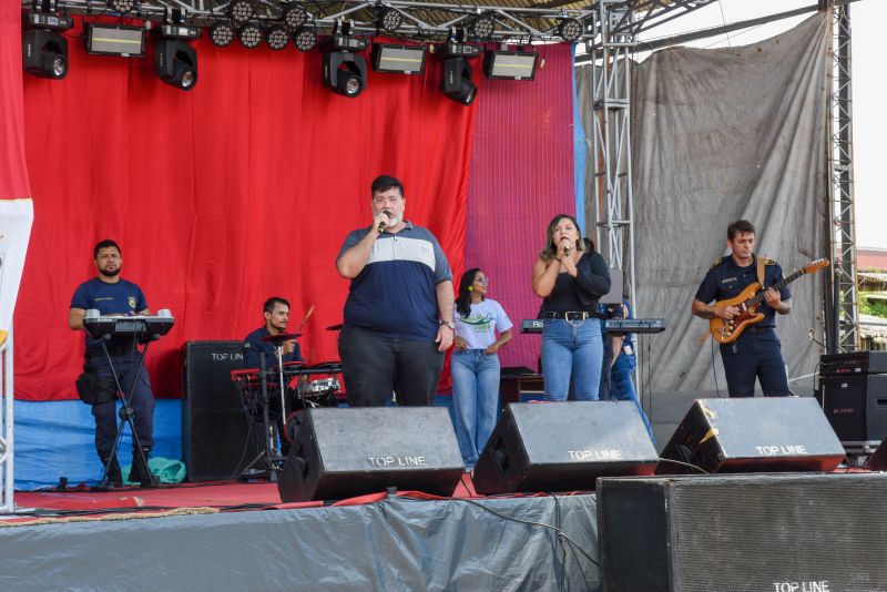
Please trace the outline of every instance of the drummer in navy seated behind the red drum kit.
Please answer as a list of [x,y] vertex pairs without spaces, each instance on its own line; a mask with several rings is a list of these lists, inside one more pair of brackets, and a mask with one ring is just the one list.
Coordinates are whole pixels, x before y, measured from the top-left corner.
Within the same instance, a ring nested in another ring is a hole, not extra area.
[[[302,350],[298,347],[296,339],[287,339],[283,343],[283,360],[277,359],[277,351],[274,341],[263,341],[263,337],[272,335],[282,335],[286,331],[286,326],[289,323],[289,303],[277,296],[265,300],[265,325],[257,328],[246,336],[243,344],[243,364],[244,368],[261,368],[262,358],[265,358],[265,368],[271,370],[279,366],[279,361],[286,364],[287,361],[305,361],[302,358]],[[275,387],[277,382],[273,379],[268,380],[268,386]],[[275,390],[277,392],[277,390]],[[284,415],[281,414],[281,398],[278,396],[269,397],[268,412],[277,420],[278,433],[284,429]],[[281,452],[286,456],[288,445],[284,438],[281,438]]]

